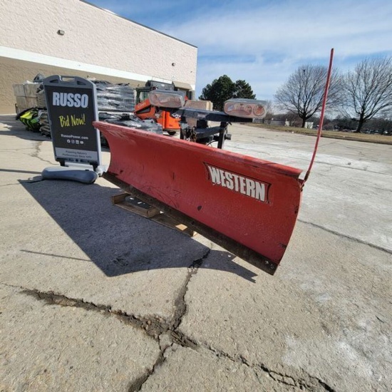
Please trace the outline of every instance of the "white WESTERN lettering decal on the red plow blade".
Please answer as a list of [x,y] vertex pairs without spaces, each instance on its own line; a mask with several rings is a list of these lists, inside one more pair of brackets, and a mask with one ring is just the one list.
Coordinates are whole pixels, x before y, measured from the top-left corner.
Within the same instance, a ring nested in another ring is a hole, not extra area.
[[212,184],[220,185],[221,187],[225,187],[229,190],[234,190],[234,192],[239,192],[242,193],[242,195],[253,197],[261,202],[267,202],[267,183],[254,180],[249,177],[244,177],[242,175],[237,175],[218,167],[207,164],[206,166],[210,172],[210,180]]

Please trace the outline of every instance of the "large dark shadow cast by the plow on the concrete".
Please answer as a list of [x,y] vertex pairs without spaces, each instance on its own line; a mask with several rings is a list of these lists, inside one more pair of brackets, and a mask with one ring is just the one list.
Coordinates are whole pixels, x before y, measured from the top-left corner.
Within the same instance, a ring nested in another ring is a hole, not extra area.
[[[86,259],[78,260],[91,260],[108,277],[190,267],[201,262],[207,252],[207,247],[185,234],[114,206],[111,196],[119,193],[118,188],[61,180],[20,182],[87,255]],[[38,250],[21,249],[41,254]],[[64,257],[58,253],[53,238],[53,251],[42,254]],[[211,250],[208,263],[200,268],[231,272],[254,282],[256,274],[232,259],[234,256],[229,252]]]

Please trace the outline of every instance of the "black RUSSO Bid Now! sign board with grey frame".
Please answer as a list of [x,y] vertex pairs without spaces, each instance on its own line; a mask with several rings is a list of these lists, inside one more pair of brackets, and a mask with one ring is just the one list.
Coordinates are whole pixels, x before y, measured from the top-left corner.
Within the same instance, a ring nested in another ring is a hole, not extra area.
[[61,165],[100,165],[100,136],[96,85],[78,76],[49,76],[43,80],[53,150]]

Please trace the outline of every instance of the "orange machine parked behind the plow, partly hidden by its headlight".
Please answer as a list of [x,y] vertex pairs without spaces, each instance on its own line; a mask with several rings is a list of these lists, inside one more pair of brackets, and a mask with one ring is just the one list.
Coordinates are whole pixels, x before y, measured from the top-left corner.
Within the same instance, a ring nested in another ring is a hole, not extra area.
[[162,125],[163,130],[169,135],[175,135],[180,130],[180,116],[151,105],[148,93],[155,89],[174,91],[175,86],[171,83],[148,81],[145,87],[136,88],[135,115],[140,120],[152,118]]

